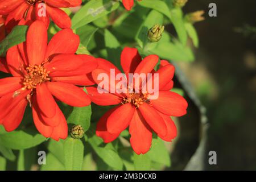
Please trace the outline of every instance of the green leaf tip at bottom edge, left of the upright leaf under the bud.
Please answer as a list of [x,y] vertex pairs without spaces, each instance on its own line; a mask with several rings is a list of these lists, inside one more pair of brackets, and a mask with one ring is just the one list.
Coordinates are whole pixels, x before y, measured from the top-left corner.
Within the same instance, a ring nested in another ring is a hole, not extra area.
[[41,166],[41,171],[64,171],[64,165],[55,157],[55,155],[49,153],[46,155],[46,164]]

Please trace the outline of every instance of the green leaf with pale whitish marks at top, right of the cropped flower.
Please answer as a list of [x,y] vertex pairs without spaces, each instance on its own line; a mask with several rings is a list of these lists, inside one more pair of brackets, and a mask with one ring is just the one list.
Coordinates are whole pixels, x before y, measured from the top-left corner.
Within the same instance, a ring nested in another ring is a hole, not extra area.
[[104,15],[116,10],[119,7],[117,1],[91,0],[84,5],[72,18],[72,28],[77,29]]

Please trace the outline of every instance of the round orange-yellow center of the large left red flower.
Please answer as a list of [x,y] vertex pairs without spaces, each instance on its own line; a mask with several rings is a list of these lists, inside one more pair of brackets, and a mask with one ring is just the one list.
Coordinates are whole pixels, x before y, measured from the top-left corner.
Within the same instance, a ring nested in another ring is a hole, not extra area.
[[24,89],[35,89],[37,85],[50,80],[49,72],[43,65],[28,65],[26,72],[23,80]]

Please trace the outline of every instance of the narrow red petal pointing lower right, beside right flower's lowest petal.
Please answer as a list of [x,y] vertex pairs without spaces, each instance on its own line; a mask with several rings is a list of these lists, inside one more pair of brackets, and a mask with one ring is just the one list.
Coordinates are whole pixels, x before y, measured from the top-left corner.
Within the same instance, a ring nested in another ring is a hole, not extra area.
[[148,125],[155,131],[155,133],[163,136],[166,135],[167,126],[166,123],[164,123],[163,118],[160,117],[160,115],[158,114],[158,111],[156,111],[152,106],[146,103],[139,106],[139,111],[141,111],[143,118],[146,120]]

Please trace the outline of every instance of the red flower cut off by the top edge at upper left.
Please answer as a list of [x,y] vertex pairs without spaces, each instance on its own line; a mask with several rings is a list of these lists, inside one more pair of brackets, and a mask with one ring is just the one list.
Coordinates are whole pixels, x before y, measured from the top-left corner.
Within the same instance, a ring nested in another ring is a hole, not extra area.
[[60,7],[76,7],[81,3],[81,0],[1,0],[0,15],[7,15],[5,24],[9,31],[18,23],[35,20],[42,20],[48,27],[49,18],[60,28],[70,28],[71,19]]

